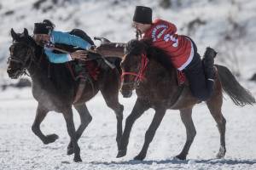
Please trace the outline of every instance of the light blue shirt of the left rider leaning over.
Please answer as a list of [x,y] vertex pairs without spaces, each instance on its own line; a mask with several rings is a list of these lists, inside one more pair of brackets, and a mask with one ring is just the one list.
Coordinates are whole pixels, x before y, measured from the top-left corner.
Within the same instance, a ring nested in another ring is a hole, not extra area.
[[[55,43],[63,43],[83,49],[89,49],[91,46],[89,42],[86,42],[81,37],[71,35],[67,32],[51,31],[48,46],[52,46]],[[72,60],[70,54],[55,54],[52,51],[52,48],[48,48],[47,46],[44,47],[44,53],[51,63],[65,63]]]

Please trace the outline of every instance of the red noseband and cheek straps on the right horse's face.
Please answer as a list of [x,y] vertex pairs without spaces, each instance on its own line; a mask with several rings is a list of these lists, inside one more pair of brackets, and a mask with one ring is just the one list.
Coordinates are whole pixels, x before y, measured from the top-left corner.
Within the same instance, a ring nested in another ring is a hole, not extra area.
[[[128,54],[125,55],[125,57]],[[140,82],[142,82],[143,80],[145,80],[146,78],[144,77],[145,74],[145,70],[147,68],[148,65],[148,57],[145,53],[143,53],[142,55],[142,59],[141,59],[141,65],[140,65],[140,69],[138,72],[130,72],[130,71],[125,71],[122,73],[121,75],[121,81],[123,82],[122,85],[123,86],[133,86],[133,88],[139,88]],[[134,76],[133,82],[124,82],[124,77],[126,75],[132,75]]]

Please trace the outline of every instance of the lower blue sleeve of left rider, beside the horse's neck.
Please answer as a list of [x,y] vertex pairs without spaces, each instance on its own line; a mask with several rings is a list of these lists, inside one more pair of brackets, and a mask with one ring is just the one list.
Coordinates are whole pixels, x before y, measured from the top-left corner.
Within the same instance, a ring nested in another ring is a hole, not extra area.
[[44,50],[44,53],[51,63],[66,63],[73,60],[70,54],[55,54],[49,50]]

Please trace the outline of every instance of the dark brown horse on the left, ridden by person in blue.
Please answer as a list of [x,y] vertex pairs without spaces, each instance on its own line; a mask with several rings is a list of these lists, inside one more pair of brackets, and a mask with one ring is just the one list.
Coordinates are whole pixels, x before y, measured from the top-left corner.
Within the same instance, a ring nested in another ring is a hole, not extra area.
[[[82,161],[78,140],[92,119],[85,102],[92,99],[100,91],[106,104],[116,115],[116,141],[119,147],[124,110],[124,106],[119,103],[118,98],[120,88],[119,62],[116,62],[114,69],[109,67],[100,68],[97,80],[86,82],[86,88],[84,88],[81,98],[76,104],[73,104],[79,82],[73,79],[67,66],[65,64],[50,64],[44,54],[44,48],[38,46],[33,38],[28,35],[26,28],[22,33],[16,33],[11,29],[11,36],[13,43],[9,48],[10,56],[7,68],[9,77],[16,79],[28,72],[32,78],[32,95],[38,101],[32,132],[44,144],[55,142],[58,136],[55,133],[44,135],[40,130],[40,124],[49,111],[62,113],[71,139],[67,146],[67,155],[74,153],[73,161]],[[91,83],[93,86],[90,86]],[[81,120],[77,131],[74,127],[72,106],[79,112]]]

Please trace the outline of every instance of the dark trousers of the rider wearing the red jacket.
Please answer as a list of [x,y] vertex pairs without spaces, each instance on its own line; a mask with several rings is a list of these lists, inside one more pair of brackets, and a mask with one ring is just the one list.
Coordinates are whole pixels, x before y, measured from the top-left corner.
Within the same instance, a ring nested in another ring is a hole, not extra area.
[[197,99],[205,101],[212,94],[214,82],[208,80],[208,77],[205,75],[204,66],[200,54],[197,53],[195,42],[191,39],[190,41],[193,43],[194,57],[183,72],[189,80],[189,88],[192,95]]

